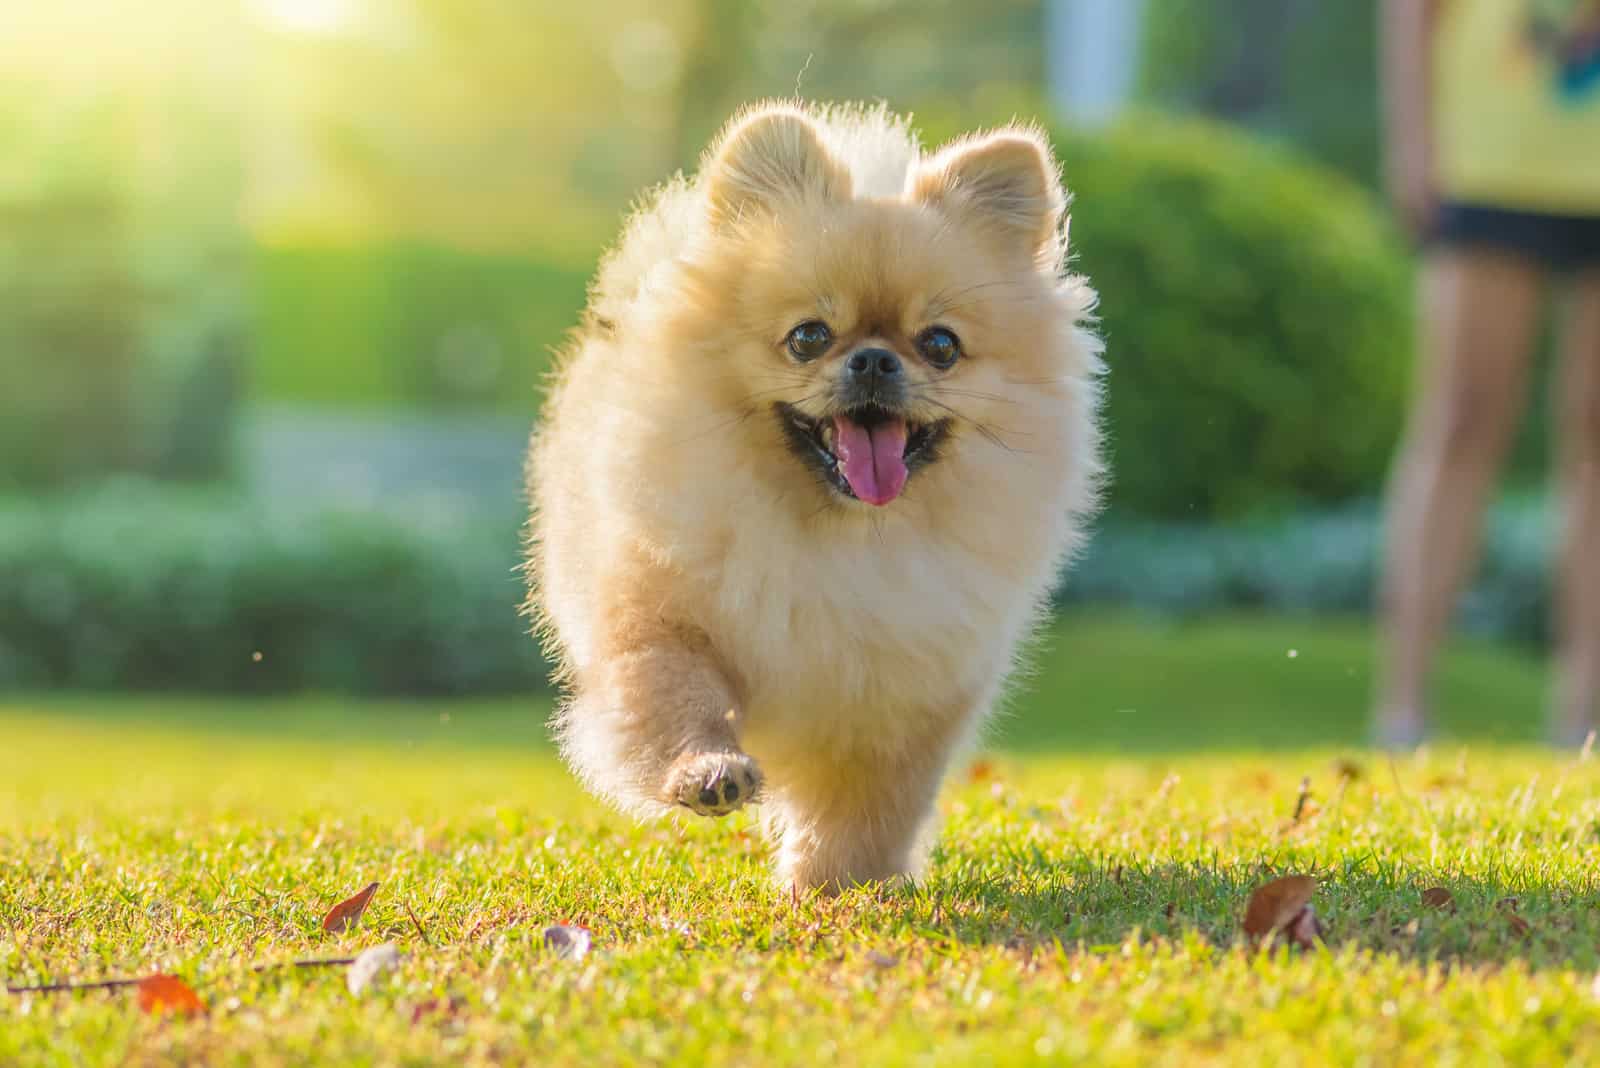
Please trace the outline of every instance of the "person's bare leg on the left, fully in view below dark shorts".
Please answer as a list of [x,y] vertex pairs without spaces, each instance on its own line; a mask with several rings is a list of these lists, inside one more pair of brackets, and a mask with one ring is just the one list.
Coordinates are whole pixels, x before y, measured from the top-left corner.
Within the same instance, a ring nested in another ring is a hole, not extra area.
[[1528,259],[1477,249],[1422,265],[1422,363],[1387,492],[1374,724],[1386,745],[1414,745],[1426,729],[1434,652],[1525,404],[1541,275]]

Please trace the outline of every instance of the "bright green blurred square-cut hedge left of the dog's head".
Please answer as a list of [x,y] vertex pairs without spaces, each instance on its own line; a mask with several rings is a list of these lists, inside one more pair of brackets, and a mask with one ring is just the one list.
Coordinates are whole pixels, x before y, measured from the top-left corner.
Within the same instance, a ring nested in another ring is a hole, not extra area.
[[270,400],[533,411],[587,270],[421,241],[256,253]]

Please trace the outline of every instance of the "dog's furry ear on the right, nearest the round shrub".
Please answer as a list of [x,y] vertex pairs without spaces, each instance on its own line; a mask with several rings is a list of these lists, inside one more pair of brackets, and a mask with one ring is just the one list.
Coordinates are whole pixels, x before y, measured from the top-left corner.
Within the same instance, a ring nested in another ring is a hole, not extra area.
[[968,213],[1034,256],[1054,248],[1067,206],[1050,142],[1026,126],[955,141],[909,184],[910,197]]

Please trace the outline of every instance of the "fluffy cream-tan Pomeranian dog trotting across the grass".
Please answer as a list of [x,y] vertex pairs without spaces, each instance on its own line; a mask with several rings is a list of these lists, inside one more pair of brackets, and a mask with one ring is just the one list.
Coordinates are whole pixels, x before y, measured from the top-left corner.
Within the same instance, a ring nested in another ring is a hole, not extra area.
[[528,464],[589,788],[758,803],[797,889],[917,873],[1096,496],[1064,213],[1037,130],[926,155],[883,109],[789,102],[635,213]]

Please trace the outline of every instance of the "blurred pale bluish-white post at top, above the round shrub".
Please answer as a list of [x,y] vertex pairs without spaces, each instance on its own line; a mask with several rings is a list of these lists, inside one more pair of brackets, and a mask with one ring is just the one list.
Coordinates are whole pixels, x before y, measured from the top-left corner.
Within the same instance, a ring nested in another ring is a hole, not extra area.
[[1050,99],[1078,123],[1106,123],[1133,94],[1144,0],[1046,0]]

